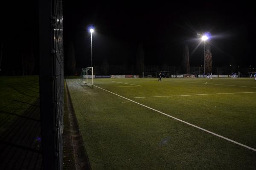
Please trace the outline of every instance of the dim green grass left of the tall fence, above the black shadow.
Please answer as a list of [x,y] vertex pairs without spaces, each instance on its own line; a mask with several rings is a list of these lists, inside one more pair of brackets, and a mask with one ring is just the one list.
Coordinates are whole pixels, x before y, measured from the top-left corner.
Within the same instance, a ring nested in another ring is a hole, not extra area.
[[38,76],[0,77],[0,133],[39,99]]

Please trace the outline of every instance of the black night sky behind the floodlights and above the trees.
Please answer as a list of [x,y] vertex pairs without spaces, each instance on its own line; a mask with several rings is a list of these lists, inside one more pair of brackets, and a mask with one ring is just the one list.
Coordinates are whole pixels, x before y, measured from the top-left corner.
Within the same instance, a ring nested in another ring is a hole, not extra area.
[[[3,8],[12,12],[3,12]],[[0,39],[4,42],[2,68],[20,66],[20,46],[34,51],[38,74],[38,4],[22,1],[1,6]],[[241,3],[152,3],[139,1],[64,0],[64,57],[69,43],[75,48],[76,66],[90,66],[89,26],[93,33],[93,65],[135,65],[137,47],[143,44],[145,65],[175,65],[182,48],[189,46],[190,65],[204,62],[204,45],[197,34],[210,32],[213,66],[256,65],[255,6]],[[194,51],[192,53],[192,51]]]

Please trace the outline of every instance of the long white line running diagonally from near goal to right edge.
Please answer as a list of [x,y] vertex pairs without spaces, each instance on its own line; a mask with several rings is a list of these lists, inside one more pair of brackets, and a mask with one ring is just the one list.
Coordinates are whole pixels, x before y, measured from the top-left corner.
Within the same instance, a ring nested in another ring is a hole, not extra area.
[[[94,85],[94,86],[97,87],[97,88],[100,88],[100,87],[98,87],[98,86],[96,86],[96,85]],[[108,90],[106,90],[106,89],[104,89],[104,88],[100,88],[100,89],[102,89],[102,90],[104,90],[104,91],[108,91]],[[229,142],[233,142],[233,143],[235,143],[235,144],[238,144],[238,145],[240,145],[240,146],[242,146],[242,147],[246,147],[247,149],[250,149],[250,150],[253,150],[253,151],[256,152],[256,149],[254,149],[254,148],[252,148],[252,147],[249,147],[249,146],[247,146],[247,145],[241,144],[241,143],[239,143],[239,142],[236,142],[236,141],[234,141],[234,140],[232,140],[232,139],[229,139],[229,138],[226,138],[226,137],[224,137],[224,136],[218,135],[218,134],[216,134],[216,133],[213,133],[213,132],[211,132],[211,131],[209,131],[209,130],[206,130],[206,129],[202,128],[202,127],[198,127],[198,126],[196,126],[196,125],[193,125],[193,124],[191,124],[191,123],[189,123],[189,122],[183,121],[183,120],[178,119],[178,118],[176,118],[176,117],[170,116],[169,114],[163,113],[163,112],[158,111],[158,110],[153,109],[153,108],[150,108],[150,107],[148,107],[148,106],[146,106],[146,105],[143,105],[143,104],[141,104],[141,103],[135,102],[135,101],[133,101],[133,100],[131,100],[131,99],[128,99],[128,98],[123,97],[123,96],[120,96],[120,95],[115,94],[115,93],[113,93],[113,92],[111,92],[111,91],[108,91],[108,92],[111,93],[111,94],[114,94],[114,95],[116,95],[116,96],[122,97],[123,99],[129,100],[130,102],[134,102],[134,103],[136,103],[136,104],[138,104],[138,105],[141,105],[141,106],[143,106],[143,107],[145,107],[145,108],[151,109],[151,110],[156,111],[156,112],[158,112],[158,113],[161,113],[161,114],[163,114],[163,115],[165,115],[165,116],[171,117],[171,118],[173,118],[173,119],[175,119],[175,120],[177,120],[177,121],[183,122],[183,123],[185,123],[185,124],[187,124],[187,125],[190,125],[190,126],[192,126],[192,127],[196,127],[196,128],[198,128],[198,129],[200,129],[200,130],[203,130],[203,131],[205,131],[205,132],[207,132],[207,133],[210,133],[210,134],[212,134],[212,135],[218,136],[218,137],[220,137],[220,138],[222,138],[222,139],[225,139],[225,140],[227,140],[227,141],[229,141]]]

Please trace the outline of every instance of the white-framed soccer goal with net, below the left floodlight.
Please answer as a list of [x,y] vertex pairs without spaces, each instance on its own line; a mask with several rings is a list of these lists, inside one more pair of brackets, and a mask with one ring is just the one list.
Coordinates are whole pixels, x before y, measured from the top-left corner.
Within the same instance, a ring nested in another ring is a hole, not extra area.
[[93,67],[82,68],[81,75],[79,75],[77,85],[89,85],[93,87]]

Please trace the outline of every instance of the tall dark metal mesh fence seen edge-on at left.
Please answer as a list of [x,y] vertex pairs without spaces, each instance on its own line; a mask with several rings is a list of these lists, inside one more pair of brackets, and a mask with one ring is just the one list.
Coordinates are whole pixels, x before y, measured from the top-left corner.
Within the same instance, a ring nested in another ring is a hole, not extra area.
[[39,0],[40,105],[43,169],[63,164],[62,0]]

